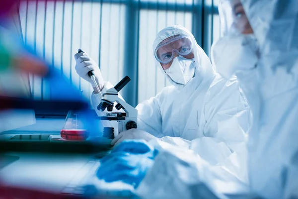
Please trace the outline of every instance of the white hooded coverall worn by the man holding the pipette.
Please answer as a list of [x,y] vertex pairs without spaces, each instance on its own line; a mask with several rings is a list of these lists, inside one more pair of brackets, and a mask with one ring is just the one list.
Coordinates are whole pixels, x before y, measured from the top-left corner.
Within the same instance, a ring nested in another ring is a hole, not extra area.
[[[186,85],[177,84],[156,61],[172,86],[137,105],[138,128],[164,142],[193,149],[214,165],[237,152],[243,153],[240,156],[244,161],[250,112],[237,80],[226,81],[217,74],[194,36],[181,25],[166,27],[157,34],[153,54],[161,41],[179,34],[189,36],[195,44],[195,77]],[[105,83],[102,93],[110,87]],[[96,108],[97,95],[91,97],[93,107],[102,114]],[[240,178],[245,179],[245,174]]]

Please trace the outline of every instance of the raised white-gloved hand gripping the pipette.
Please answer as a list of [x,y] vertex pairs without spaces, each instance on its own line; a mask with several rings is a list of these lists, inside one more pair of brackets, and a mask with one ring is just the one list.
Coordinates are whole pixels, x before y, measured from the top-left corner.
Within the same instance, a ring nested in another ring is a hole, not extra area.
[[102,90],[102,88],[104,86],[104,80],[102,78],[99,67],[91,59],[91,57],[89,57],[89,55],[87,55],[86,53],[76,53],[74,55],[74,59],[75,59],[75,62],[76,62],[76,64],[75,64],[76,73],[81,78],[83,78],[84,80],[89,82],[92,85],[93,88],[95,88],[95,85],[94,85],[93,81],[88,76],[88,72],[93,71],[96,83],[97,83],[99,89]]

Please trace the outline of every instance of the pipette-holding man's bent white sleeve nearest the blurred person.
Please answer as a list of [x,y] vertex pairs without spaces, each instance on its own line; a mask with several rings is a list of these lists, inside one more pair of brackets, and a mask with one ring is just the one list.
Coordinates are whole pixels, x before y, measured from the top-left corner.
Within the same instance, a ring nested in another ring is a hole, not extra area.
[[250,111],[238,82],[228,81],[220,92],[211,90],[207,96],[205,137],[192,140],[190,149],[211,165],[224,166],[241,181],[247,182],[246,132]]

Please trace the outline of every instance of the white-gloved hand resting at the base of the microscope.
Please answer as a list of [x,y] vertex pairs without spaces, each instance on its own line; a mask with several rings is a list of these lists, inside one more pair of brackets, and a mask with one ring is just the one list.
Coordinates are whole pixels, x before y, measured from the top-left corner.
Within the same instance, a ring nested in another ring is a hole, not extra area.
[[142,139],[142,140],[150,141],[151,139],[158,139],[158,138],[156,138],[154,135],[151,135],[150,133],[144,130],[132,128],[127,131],[123,131],[119,133],[117,137],[115,137],[112,140],[111,145],[117,145],[126,139]]

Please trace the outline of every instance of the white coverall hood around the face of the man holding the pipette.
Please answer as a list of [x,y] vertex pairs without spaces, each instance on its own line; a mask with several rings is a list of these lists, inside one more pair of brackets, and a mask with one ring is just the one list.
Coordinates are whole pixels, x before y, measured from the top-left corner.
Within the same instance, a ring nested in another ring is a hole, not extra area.
[[[169,26],[166,27],[164,29],[162,29],[161,31],[159,31],[157,33],[157,36],[153,42],[153,46],[152,46],[152,51],[153,51],[153,57],[154,57],[154,51],[156,49],[156,47],[158,46],[158,44],[160,42],[162,42],[163,40],[174,36],[174,35],[187,35],[188,37],[191,38],[193,44],[194,44],[194,55],[195,55],[195,76],[192,78],[194,80],[188,82],[196,82],[195,84],[197,84],[197,86],[200,85],[200,83],[204,80],[207,80],[211,77],[214,76],[215,74],[215,70],[208,58],[208,56],[206,55],[206,53],[204,52],[204,50],[197,44],[195,37],[190,33],[189,30],[187,30],[185,27],[183,27],[182,25],[173,25],[173,26]],[[160,63],[155,59],[155,63],[156,65],[160,68],[160,70],[162,71],[162,73],[165,75],[165,77],[169,80],[169,82],[174,85],[175,87],[178,88],[183,88],[185,85],[181,85],[181,84],[177,84],[176,82],[174,82],[163,70],[163,68],[161,67]]]

